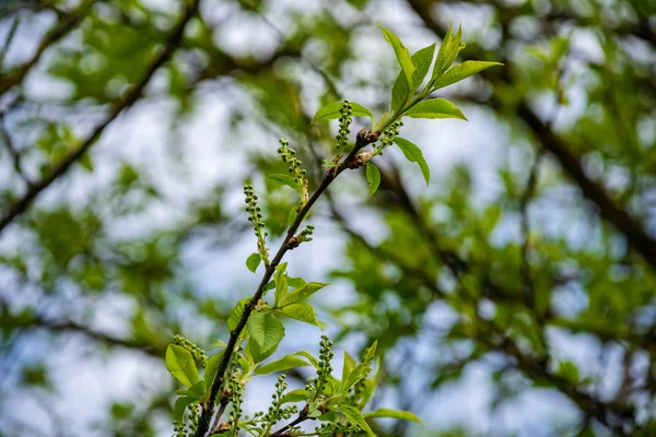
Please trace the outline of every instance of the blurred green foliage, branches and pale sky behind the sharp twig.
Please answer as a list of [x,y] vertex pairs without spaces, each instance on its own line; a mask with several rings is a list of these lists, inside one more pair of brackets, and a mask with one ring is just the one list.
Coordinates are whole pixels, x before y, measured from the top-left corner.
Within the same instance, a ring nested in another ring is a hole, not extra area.
[[[411,51],[462,23],[459,61],[505,63],[442,93],[468,123],[406,122],[429,188],[386,153],[290,257],[333,282],[340,349],[378,339],[377,402],[426,422],[376,432],[656,435],[656,2],[4,0],[0,436],[171,434],[167,342],[225,340],[258,281],[243,184],[280,236],[277,139],[316,182],[314,111],[389,105],[375,22]],[[279,354],[319,334],[290,323]]]

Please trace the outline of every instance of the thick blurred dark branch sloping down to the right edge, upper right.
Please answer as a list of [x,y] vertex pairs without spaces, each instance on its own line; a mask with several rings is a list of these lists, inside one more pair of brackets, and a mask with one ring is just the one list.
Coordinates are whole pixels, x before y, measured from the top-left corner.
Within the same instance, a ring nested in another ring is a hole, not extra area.
[[[442,36],[446,32],[446,28],[444,28],[431,13],[431,5],[433,2],[425,0],[408,0],[408,3],[422,19],[425,26],[432,29],[436,35]],[[464,52],[466,58],[467,54],[470,54],[472,57],[476,56],[476,59],[488,59],[483,51],[477,52],[473,49],[466,50],[466,52]],[[494,76],[494,79],[509,85],[513,84],[513,78],[507,68],[501,69],[497,71],[497,74],[499,75]],[[503,105],[496,94],[493,94],[490,101],[496,107]],[[608,196],[604,187],[591,180],[585,174],[581,160],[575,156],[560,138],[555,135],[551,128],[543,122],[532,109],[530,109],[526,102],[520,103],[516,108],[516,111],[524,123],[532,130],[536,141],[558,160],[563,170],[578,185],[583,196],[597,205],[599,215],[605,221],[614,225],[614,227],[624,235],[629,245],[637,251],[654,270],[656,270],[656,239],[652,238],[644,231],[642,223],[637,222],[626,211],[618,206]]]

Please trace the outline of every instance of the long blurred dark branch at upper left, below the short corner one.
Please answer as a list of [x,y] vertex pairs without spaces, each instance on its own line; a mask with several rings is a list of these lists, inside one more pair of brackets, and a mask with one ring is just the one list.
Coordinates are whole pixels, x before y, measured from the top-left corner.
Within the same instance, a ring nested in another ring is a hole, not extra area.
[[[57,178],[63,175],[97,140],[101,138],[107,126],[114,121],[118,115],[124,110],[132,106],[140,97],[141,93],[149,84],[151,78],[164,63],[166,63],[177,47],[180,45],[185,27],[189,20],[198,12],[198,5],[200,0],[194,0],[191,4],[185,10],[180,21],[174,27],[173,32],[168,36],[162,52],[155,58],[150,64],[143,76],[139,82],[130,87],[130,90],[117,99],[113,105],[109,116],[97,126],[90,137],[86,138],[77,149],[71,151],[59,164],[52,168],[50,174],[45,176],[43,179],[35,181],[27,190],[27,192],[13,205],[10,206],[5,215],[0,220],[0,233],[7,225],[9,225],[14,218],[21,215],[27,210],[32,201],[46,188],[50,186]],[[1,91],[1,90],[0,90]],[[1,93],[0,93],[1,94]]]

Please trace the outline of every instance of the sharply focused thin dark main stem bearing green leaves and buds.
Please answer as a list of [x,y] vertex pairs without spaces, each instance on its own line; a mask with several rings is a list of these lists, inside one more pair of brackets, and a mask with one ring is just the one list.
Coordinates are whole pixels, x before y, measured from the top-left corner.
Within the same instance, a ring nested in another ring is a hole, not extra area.
[[[363,131],[364,131],[364,129],[363,129]],[[328,169],[324,174],[324,179],[321,180],[321,184],[317,187],[316,191],[312,194],[312,197],[309,198],[307,203],[303,206],[303,209],[301,211],[298,211],[296,220],[294,220],[294,223],[292,223],[292,225],[289,227],[286,235],[285,235],[284,239],[282,240],[280,248],[278,249],[278,252],[276,252],[276,257],[273,257],[273,259],[271,260],[271,263],[265,270],[265,274],[263,274],[255,294],[253,295],[253,298],[244,308],[244,312],[242,314],[242,318],[239,319],[237,327],[230,333],[230,340],[227,342],[227,345],[225,346],[225,352],[223,353],[223,358],[221,359],[221,363],[219,364],[219,368],[216,370],[216,376],[212,383],[212,388],[210,389],[210,397],[209,397],[208,401],[201,405],[202,413],[200,416],[197,432],[195,434],[196,437],[203,437],[206,435],[206,433],[208,432],[208,428],[210,426],[210,421],[212,420],[212,414],[214,411],[214,403],[216,401],[216,394],[218,394],[219,390],[221,389],[221,386],[223,385],[223,377],[225,375],[225,370],[227,369],[230,359],[231,359],[232,354],[237,344],[237,340],[239,339],[239,334],[246,327],[246,322],[248,321],[248,318],[250,317],[250,312],[253,312],[253,309],[255,308],[255,306],[257,305],[259,299],[262,297],[262,295],[265,293],[265,286],[271,280],[271,276],[276,272],[276,268],[278,267],[278,264],[280,264],[280,261],[282,261],[282,258],[284,257],[286,251],[290,250],[290,245],[289,245],[290,240],[295,236],[296,231],[298,231],[298,227],[301,226],[301,223],[303,222],[303,220],[305,218],[305,216],[307,215],[307,213],[309,212],[312,206],[316,203],[316,201],[321,197],[321,194],[330,186],[330,184],[332,184],[332,181],[343,170],[345,170],[347,168],[350,168],[350,166],[354,162],[354,158],[355,158],[358,152],[362,147],[366,146],[367,144],[370,144],[371,142],[374,142],[374,141],[375,140],[370,140],[366,137],[366,132],[365,132],[365,134],[362,134],[362,131],[361,131],[358,134],[355,145],[351,150],[351,153],[349,153],[349,155],[342,161],[342,163],[339,165],[339,167],[328,167]]]

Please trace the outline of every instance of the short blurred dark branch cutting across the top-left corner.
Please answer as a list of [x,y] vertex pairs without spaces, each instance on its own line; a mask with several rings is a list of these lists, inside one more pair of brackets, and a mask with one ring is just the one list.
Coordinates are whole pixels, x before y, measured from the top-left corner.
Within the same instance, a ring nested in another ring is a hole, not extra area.
[[23,63],[20,67],[16,67],[14,70],[8,72],[2,78],[0,78],[0,96],[11,90],[13,86],[23,82],[25,75],[32,70],[34,66],[38,62],[42,55],[48,47],[56,44],[58,40],[70,34],[78,23],[82,20],[82,17],[86,14],[91,5],[94,3],[94,0],[86,0],[75,10],[63,15],[57,25],[46,34],[45,38],[36,48],[36,52],[30,58],[30,60]]

